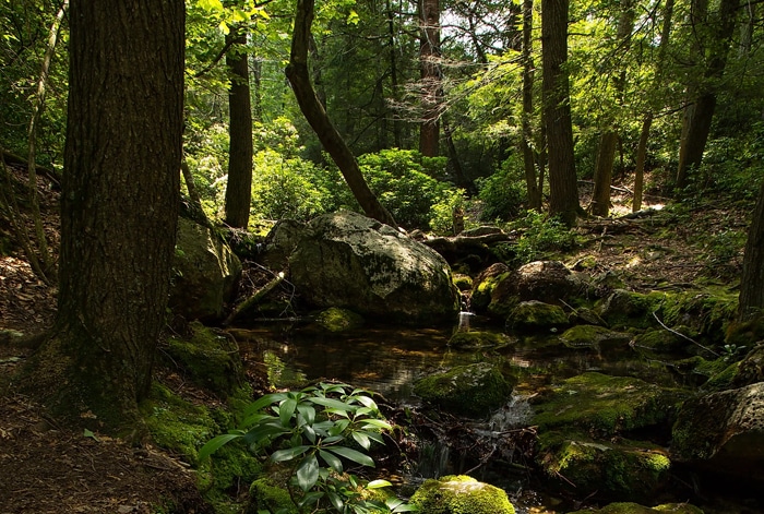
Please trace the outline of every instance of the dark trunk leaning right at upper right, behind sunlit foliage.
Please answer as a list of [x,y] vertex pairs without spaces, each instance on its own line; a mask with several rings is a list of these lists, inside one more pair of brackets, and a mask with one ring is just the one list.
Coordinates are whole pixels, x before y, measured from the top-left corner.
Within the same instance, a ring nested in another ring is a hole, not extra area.
[[707,12],[705,0],[697,3],[697,22],[706,25],[704,31],[708,36],[703,40],[707,46],[707,55],[704,60],[707,62],[701,73],[700,83],[689,86],[690,103],[684,111],[682,139],[679,148],[679,168],[677,170],[677,189],[682,190],[688,186],[689,171],[701,166],[703,152],[711,133],[711,122],[716,110],[716,94],[718,82],[724,75],[729,55],[730,43],[736,27],[736,14],[739,0],[721,0],[715,16]]

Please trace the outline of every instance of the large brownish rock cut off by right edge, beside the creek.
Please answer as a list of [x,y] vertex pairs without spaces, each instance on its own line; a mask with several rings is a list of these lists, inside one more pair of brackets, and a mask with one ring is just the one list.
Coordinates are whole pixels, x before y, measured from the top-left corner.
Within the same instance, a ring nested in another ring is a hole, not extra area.
[[679,462],[764,480],[764,382],[685,402],[672,437]]

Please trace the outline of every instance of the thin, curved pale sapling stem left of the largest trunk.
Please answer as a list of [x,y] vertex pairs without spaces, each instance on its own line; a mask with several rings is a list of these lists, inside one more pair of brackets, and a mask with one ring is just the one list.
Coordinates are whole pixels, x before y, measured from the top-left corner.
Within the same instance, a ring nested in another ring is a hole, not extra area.
[[45,95],[48,84],[48,73],[50,71],[50,61],[53,58],[53,52],[56,50],[56,43],[58,41],[58,33],[61,27],[61,21],[69,7],[69,0],[63,0],[61,8],[56,14],[53,23],[50,25],[50,32],[48,36],[48,46],[45,49],[45,56],[43,57],[43,65],[40,67],[39,80],[37,81],[37,92],[35,94],[34,106],[32,108],[32,119],[29,120],[29,130],[27,131],[27,141],[29,145],[27,163],[27,175],[29,177],[29,204],[32,206],[32,218],[35,225],[35,241],[37,243],[37,249],[39,251],[39,258],[41,261],[43,274],[40,278],[50,283],[56,279],[56,263],[53,258],[48,250],[48,238],[45,235],[45,228],[43,227],[43,216],[39,212],[39,200],[37,199],[37,168],[35,166],[36,157],[36,146],[37,146],[37,125],[43,116],[43,110],[45,109]]

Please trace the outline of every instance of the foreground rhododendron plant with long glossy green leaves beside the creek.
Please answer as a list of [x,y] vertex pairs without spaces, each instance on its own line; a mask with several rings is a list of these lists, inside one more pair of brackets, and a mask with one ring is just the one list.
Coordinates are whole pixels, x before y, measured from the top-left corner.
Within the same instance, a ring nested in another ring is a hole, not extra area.
[[365,482],[346,471],[347,463],[373,467],[367,452],[374,442],[384,444],[382,432],[390,429],[369,392],[321,383],[261,397],[247,408],[240,428],[208,441],[200,458],[243,439],[255,454],[288,463],[290,495],[301,512],[404,512],[408,506],[395,499],[367,499],[367,489],[389,482]]

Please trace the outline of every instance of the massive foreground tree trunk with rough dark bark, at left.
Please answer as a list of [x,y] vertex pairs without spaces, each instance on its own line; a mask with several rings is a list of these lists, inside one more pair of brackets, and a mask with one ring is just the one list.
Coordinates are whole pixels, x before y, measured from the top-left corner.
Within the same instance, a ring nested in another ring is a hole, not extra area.
[[72,0],[59,310],[34,391],[93,429],[139,419],[175,251],[182,0]]

